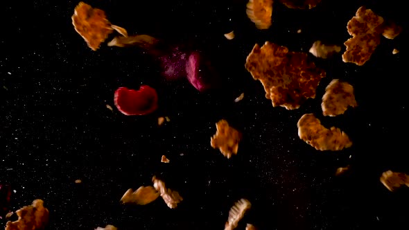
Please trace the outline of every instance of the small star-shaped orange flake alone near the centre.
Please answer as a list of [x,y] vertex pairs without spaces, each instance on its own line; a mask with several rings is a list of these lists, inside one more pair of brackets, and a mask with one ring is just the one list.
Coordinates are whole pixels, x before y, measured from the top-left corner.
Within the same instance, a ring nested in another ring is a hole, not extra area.
[[241,138],[241,132],[230,127],[229,123],[222,119],[216,123],[216,134],[211,137],[210,145],[212,148],[218,148],[229,159],[232,157],[232,154],[237,154],[238,143],[241,141]]

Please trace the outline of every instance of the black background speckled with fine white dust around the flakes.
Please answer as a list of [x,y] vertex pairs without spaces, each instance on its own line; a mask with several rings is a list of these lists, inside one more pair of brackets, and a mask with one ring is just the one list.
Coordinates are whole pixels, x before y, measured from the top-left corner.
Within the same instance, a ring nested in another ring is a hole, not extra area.
[[[252,209],[238,229],[246,222],[259,229],[407,226],[408,188],[391,193],[379,182],[385,170],[409,172],[402,1],[322,0],[312,10],[275,1],[268,30],[247,18],[247,1],[86,3],[129,34],[206,51],[222,84],[200,93],[186,78],[163,78],[157,62],[137,48],[103,44],[92,51],[71,24],[78,1],[7,2],[1,6],[0,183],[16,191],[11,210],[40,198],[51,213],[49,229],[223,229],[230,207],[245,197]],[[363,67],[341,58],[347,21],[360,6],[403,26],[394,40],[382,37]],[[231,30],[236,37],[227,40],[223,34]],[[316,99],[293,111],[272,107],[245,70],[245,57],[255,43],[308,52],[317,39],[342,51],[327,60],[309,54],[327,71]],[[401,52],[392,55],[393,48]],[[320,98],[333,78],[354,86],[358,107],[329,118],[322,116]],[[114,91],[141,84],[157,89],[159,109],[147,116],[118,112]],[[234,103],[242,92],[243,100]],[[306,113],[340,127],[354,145],[340,152],[313,149],[297,136]],[[158,127],[158,116],[171,122]],[[221,118],[244,135],[229,160],[209,143]],[[162,154],[171,163],[161,163]],[[347,164],[350,172],[335,177]],[[162,200],[119,203],[128,188],[151,185],[153,175],[184,197],[177,209]]]

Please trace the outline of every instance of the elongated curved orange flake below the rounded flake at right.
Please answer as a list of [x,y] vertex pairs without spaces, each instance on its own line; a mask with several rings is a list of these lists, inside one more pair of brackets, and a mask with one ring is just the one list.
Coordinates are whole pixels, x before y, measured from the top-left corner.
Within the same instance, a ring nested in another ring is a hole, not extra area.
[[345,132],[337,127],[327,129],[313,114],[304,114],[297,123],[300,139],[313,146],[316,150],[342,150],[352,145]]

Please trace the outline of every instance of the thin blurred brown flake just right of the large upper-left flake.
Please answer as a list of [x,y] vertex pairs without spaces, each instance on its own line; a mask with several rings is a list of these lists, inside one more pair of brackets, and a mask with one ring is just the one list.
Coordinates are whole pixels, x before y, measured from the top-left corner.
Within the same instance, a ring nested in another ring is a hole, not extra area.
[[141,48],[151,48],[159,42],[155,37],[149,35],[132,35],[128,37],[114,37],[107,46],[139,46]]

